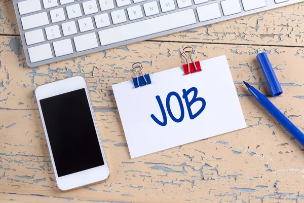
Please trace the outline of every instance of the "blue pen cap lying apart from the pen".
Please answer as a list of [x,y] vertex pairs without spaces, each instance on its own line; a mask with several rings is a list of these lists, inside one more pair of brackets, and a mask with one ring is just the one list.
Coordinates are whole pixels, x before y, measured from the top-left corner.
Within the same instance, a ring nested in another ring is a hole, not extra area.
[[274,69],[269,61],[269,58],[265,52],[262,52],[256,56],[257,61],[261,67],[267,85],[270,89],[272,96],[279,96],[283,93],[282,87],[278,81],[278,78],[274,72]]

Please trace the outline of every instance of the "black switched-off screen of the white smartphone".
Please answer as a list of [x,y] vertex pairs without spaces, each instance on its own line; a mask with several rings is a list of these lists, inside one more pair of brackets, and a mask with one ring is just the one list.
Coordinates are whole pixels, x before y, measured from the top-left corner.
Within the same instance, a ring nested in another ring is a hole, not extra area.
[[40,104],[58,177],[104,165],[85,88]]

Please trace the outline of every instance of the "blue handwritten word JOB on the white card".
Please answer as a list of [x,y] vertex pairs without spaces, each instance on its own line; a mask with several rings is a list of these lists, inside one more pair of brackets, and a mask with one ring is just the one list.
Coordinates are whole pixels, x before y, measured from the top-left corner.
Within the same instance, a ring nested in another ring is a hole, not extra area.
[[[191,92],[194,92],[194,95],[193,95],[193,98],[191,99],[191,101],[189,101],[188,95]],[[190,88],[188,90],[183,89],[182,93],[183,93],[182,97],[185,100],[189,117],[190,117],[190,119],[193,120],[196,117],[198,117],[204,111],[204,109],[206,107],[206,101],[202,97],[197,97],[198,96],[198,89],[196,87],[192,87],[192,88]],[[179,118],[175,118],[174,115],[172,114],[172,111],[171,111],[170,99],[171,99],[172,96],[175,96],[177,98],[177,101],[178,101],[178,104],[179,104],[179,108],[180,108],[180,117]],[[157,100],[157,102],[158,102],[158,104],[160,106],[160,109],[161,109],[161,112],[162,112],[162,115],[163,115],[163,122],[161,122],[158,118],[156,118],[156,116],[154,114],[151,114],[151,118],[157,124],[159,124],[161,126],[166,126],[167,122],[168,122],[168,120],[167,120],[167,114],[165,112],[165,108],[164,108],[164,105],[162,103],[161,97],[159,95],[157,95],[156,96],[156,100]],[[196,103],[197,101],[201,101],[202,107],[201,107],[201,109],[199,111],[197,111],[195,114],[193,114],[193,112],[191,110],[191,106],[194,103]],[[166,107],[167,107],[167,111],[168,111],[168,114],[169,114],[170,118],[174,122],[179,123],[179,122],[181,122],[184,119],[184,116],[185,116],[184,107],[183,107],[181,98],[180,98],[180,96],[179,96],[179,94],[177,92],[169,92],[169,94],[167,95],[167,98],[166,98]]]

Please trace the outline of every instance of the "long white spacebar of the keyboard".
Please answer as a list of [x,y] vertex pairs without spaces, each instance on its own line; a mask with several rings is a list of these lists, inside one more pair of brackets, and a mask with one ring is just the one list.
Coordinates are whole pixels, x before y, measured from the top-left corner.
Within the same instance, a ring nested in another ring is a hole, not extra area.
[[101,46],[197,23],[193,9],[98,31]]

